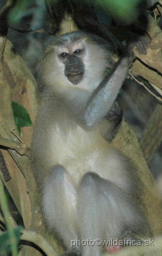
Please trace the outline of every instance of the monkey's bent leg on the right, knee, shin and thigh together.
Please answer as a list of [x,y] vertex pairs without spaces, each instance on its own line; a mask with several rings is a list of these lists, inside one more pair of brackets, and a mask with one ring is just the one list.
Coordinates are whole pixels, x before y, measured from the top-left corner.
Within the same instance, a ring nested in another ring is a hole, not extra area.
[[88,239],[90,246],[82,246],[82,256],[101,255],[103,244],[95,245],[96,239],[123,240],[127,233],[133,234],[140,228],[144,233],[145,219],[127,194],[98,174],[90,172],[83,176],[77,189],[77,223],[81,240]]

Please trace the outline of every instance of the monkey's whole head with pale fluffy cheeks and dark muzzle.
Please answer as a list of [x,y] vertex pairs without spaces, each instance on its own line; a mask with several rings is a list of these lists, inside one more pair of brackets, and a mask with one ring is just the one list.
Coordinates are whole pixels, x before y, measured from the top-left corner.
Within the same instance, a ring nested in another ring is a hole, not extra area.
[[39,86],[57,92],[73,87],[93,92],[112,66],[112,56],[101,38],[80,31],[63,34],[50,42],[39,59]]

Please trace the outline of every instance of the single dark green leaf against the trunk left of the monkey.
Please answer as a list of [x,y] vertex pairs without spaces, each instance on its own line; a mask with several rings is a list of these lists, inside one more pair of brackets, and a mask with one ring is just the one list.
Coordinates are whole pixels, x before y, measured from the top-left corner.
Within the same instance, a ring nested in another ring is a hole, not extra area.
[[27,110],[17,102],[12,101],[12,109],[16,126],[18,127],[19,133],[21,132],[20,127],[32,126],[32,122]]

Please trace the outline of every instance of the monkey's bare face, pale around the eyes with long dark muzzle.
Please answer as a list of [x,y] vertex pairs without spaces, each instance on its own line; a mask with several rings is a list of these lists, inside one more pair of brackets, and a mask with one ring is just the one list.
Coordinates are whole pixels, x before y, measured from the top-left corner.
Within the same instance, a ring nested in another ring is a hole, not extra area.
[[78,84],[84,77],[85,47],[81,42],[57,50],[60,62],[64,64],[64,74],[72,84]]

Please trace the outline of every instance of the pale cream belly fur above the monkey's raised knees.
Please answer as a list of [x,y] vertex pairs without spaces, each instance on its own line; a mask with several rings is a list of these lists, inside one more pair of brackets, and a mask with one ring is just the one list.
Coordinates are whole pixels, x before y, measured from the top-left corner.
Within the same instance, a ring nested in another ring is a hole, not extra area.
[[98,129],[78,128],[66,136],[57,132],[53,134],[51,149],[51,166],[62,165],[76,183],[85,173],[95,172],[125,187],[120,154],[103,139]]

